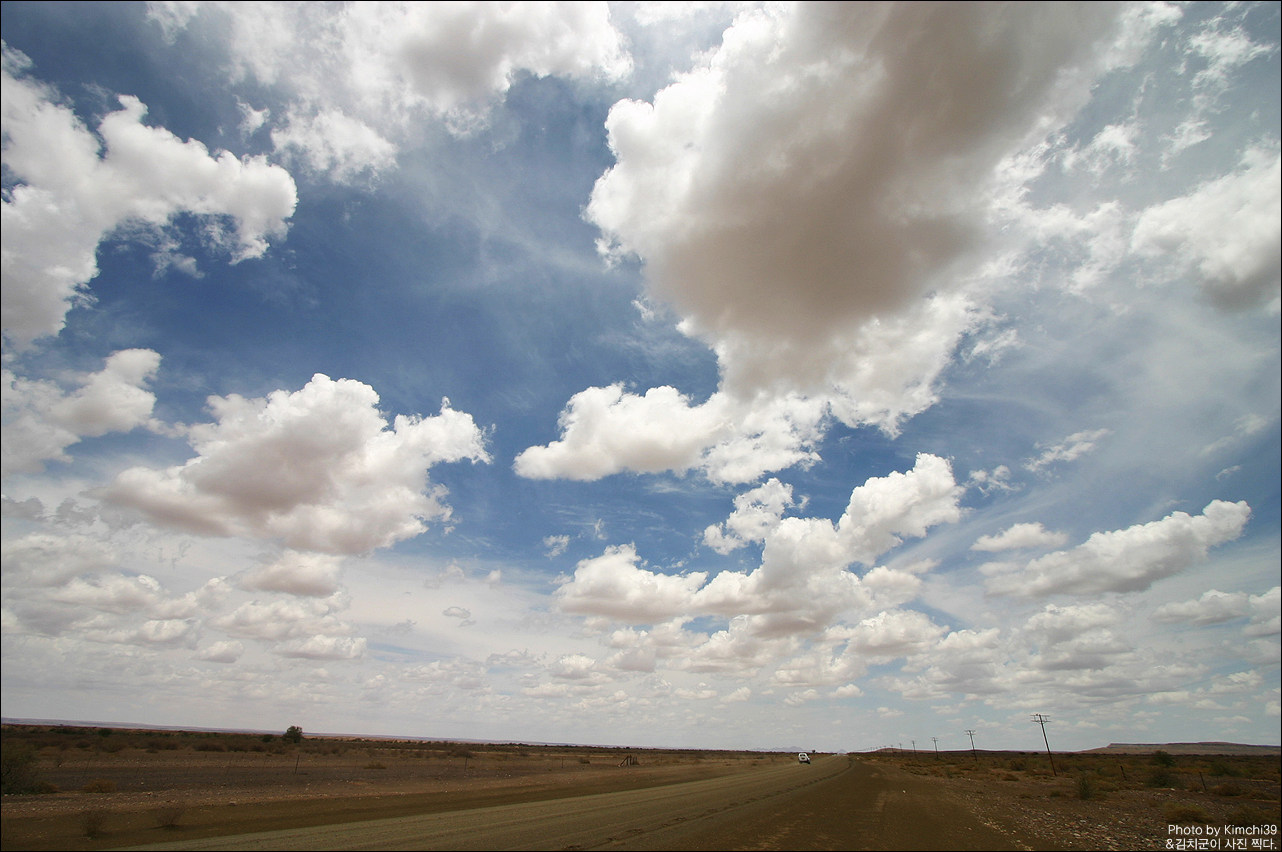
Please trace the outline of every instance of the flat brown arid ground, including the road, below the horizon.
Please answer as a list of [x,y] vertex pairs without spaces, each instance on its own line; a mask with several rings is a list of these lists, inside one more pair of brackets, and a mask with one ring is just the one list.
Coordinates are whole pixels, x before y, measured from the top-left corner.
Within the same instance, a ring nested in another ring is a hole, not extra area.
[[774,752],[6,725],[0,842],[6,852],[1278,849],[1278,751],[1215,751],[1055,753],[1054,769],[1045,752],[985,751],[815,755],[803,766]]

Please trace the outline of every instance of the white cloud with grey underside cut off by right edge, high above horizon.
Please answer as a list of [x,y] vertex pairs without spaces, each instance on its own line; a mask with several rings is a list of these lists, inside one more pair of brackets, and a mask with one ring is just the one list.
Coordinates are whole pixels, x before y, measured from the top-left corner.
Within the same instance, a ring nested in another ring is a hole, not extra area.
[[1282,282],[1279,186],[1282,156],[1253,150],[1238,172],[1146,209],[1132,247],[1195,270],[1197,283],[1220,305],[1268,302],[1276,311]]

